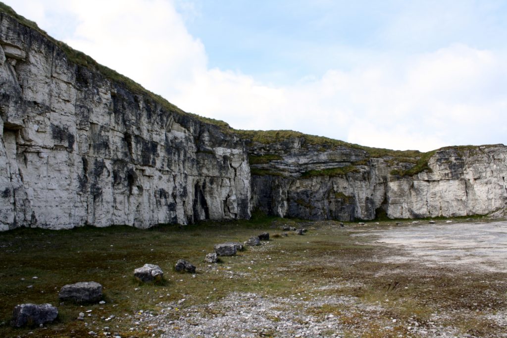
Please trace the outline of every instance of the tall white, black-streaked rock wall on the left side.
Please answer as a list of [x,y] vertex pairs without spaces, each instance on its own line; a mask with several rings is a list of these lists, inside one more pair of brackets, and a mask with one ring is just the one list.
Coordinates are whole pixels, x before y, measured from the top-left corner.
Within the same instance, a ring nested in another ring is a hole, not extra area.
[[241,140],[0,15],[0,230],[249,218]]

